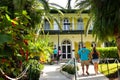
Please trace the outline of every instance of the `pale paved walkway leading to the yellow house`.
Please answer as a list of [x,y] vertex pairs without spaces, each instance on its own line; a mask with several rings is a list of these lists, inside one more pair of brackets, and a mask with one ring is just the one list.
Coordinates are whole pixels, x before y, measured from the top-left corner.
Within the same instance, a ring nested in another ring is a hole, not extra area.
[[[43,69],[43,74],[40,76],[39,80],[71,80],[59,71],[59,68],[62,65],[63,65],[62,63],[54,64],[54,65],[45,65]],[[82,71],[80,67],[78,71],[77,80],[109,80],[107,77],[105,77],[101,73],[99,73],[98,75],[95,75],[93,65],[90,65],[89,67],[89,73],[90,73],[89,76],[88,75],[82,76],[81,72]],[[73,78],[72,80],[75,80],[75,79]]]

